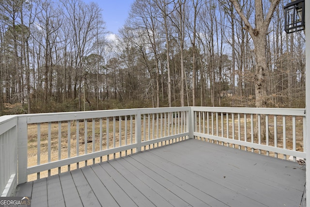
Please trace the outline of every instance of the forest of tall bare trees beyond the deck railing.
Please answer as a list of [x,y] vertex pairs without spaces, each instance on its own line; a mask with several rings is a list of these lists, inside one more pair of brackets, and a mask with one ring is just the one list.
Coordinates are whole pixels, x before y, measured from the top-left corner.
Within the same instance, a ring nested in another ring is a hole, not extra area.
[[305,34],[284,32],[288,1],[135,0],[112,39],[96,3],[0,0],[0,115],[303,108]]

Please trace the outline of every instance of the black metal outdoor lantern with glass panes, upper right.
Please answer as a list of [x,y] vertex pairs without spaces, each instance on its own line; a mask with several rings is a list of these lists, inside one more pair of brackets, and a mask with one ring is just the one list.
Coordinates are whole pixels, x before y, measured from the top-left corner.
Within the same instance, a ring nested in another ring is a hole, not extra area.
[[305,29],[305,0],[295,0],[284,6],[286,33]]

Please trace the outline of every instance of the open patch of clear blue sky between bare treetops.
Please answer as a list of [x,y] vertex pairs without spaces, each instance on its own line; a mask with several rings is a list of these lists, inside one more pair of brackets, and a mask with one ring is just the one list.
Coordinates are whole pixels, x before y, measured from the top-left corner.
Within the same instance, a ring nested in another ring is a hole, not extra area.
[[102,9],[106,30],[114,34],[124,25],[131,4],[135,0],[83,0],[86,3],[95,2]]

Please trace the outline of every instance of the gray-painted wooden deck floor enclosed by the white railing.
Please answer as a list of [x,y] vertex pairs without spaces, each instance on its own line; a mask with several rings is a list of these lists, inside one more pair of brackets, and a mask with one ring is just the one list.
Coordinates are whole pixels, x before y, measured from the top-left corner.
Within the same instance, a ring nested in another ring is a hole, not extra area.
[[295,162],[186,140],[18,186],[31,207],[298,207]]

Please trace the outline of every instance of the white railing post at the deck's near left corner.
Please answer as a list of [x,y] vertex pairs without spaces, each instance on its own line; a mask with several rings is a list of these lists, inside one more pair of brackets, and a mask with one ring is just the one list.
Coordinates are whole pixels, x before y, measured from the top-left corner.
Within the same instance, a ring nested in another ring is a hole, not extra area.
[[27,117],[19,116],[17,120],[17,157],[18,157],[18,184],[27,182],[27,150],[28,130]]

